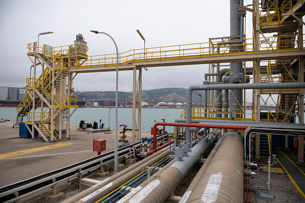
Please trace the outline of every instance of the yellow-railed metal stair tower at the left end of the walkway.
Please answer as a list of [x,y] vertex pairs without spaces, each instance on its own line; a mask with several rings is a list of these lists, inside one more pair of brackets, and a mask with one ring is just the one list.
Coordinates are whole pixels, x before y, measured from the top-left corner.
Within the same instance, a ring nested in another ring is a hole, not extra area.
[[[28,53],[28,55],[35,56],[35,54],[32,53]],[[15,125],[18,125],[19,123],[23,122],[24,117],[27,118],[27,121],[25,122],[26,124],[32,124],[32,118],[34,118],[35,129],[39,131],[39,133],[46,141],[49,141],[46,137],[51,138],[50,129],[52,118],[50,113],[50,107],[52,106],[52,104],[53,106],[60,105],[60,99],[58,95],[53,95],[52,98],[52,71],[54,71],[54,88],[56,88],[61,83],[61,78],[67,77],[67,73],[61,70],[54,70],[52,57],[45,55],[44,52],[36,53],[36,57],[40,59],[41,62],[45,65],[44,72],[40,75],[39,78],[35,80],[35,82],[33,81],[34,78],[27,78],[27,94],[16,109],[17,116]],[[34,116],[31,112],[33,109],[33,90],[35,91],[34,109],[37,109],[40,105],[43,106],[44,104],[48,105],[49,107],[49,109],[47,109],[45,112],[35,113]],[[61,110],[66,111],[67,108],[54,108],[53,120],[56,120],[60,117]],[[59,138],[59,130],[55,127],[53,135]],[[56,137],[54,137],[54,140],[57,140]]]

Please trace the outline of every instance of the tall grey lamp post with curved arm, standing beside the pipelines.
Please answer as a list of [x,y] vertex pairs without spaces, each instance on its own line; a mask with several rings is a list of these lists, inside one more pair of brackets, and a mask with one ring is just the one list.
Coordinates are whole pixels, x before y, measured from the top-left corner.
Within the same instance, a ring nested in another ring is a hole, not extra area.
[[116,77],[116,126],[115,126],[115,173],[118,172],[118,92],[119,92],[119,51],[118,46],[115,41],[109,34],[105,32],[99,32],[96,30],[90,30],[90,32],[96,33],[96,34],[106,34],[108,35],[113,43],[115,43],[116,49],[117,49],[117,77]]

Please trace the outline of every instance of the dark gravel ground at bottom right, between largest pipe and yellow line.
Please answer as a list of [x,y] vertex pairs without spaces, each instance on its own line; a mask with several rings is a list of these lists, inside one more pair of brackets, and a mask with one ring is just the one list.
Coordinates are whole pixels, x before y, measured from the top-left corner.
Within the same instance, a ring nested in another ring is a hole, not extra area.
[[[261,158],[258,164],[267,165],[268,158]],[[304,197],[298,192],[292,184],[288,175],[271,174],[270,176],[270,192],[273,193],[274,200],[260,200],[259,194],[255,198],[256,189],[266,189],[268,182],[268,173],[258,171],[258,174],[252,176],[250,180],[251,202],[305,202]],[[259,193],[260,190],[257,190]]]

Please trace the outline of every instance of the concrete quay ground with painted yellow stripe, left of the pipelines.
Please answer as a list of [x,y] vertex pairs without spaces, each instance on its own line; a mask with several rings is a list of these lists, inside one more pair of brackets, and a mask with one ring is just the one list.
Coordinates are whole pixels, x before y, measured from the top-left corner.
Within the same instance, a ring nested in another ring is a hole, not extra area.
[[[106,139],[106,151],[102,154],[114,150],[113,130],[112,134],[88,133],[70,127],[70,140],[63,139],[62,142],[55,141],[51,144],[38,137],[34,141],[31,138],[20,138],[19,128],[12,128],[13,124],[13,121],[0,123],[0,187],[96,156],[97,152],[92,151],[92,140],[96,138]],[[131,131],[126,134],[126,139],[131,143]],[[150,133],[142,132],[141,136],[150,136]],[[118,137],[120,138],[119,133]]]

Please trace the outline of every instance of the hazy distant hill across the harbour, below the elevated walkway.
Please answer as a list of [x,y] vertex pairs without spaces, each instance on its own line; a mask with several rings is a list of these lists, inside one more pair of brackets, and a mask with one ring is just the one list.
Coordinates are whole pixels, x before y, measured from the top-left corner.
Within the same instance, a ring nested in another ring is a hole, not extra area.
[[[79,100],[85,100],[89,102],[100,100],[115,100],[115,91],[95,91],[95,92],[79,92],[75,91],[74,95],[79,97]],[[132,92],[120,92],[119,101],[131,101]],[[202,97],[203,99],[203,97]],[[142,90],[142,101],[146,101],[148,104],[158,104],[161,101],[166,103],[186,103],[186,88],[162,88],[154,90]],[[200,103],[199,96],[193,96],[193,103]],[[203,101],[202,101],[203,102]]]

